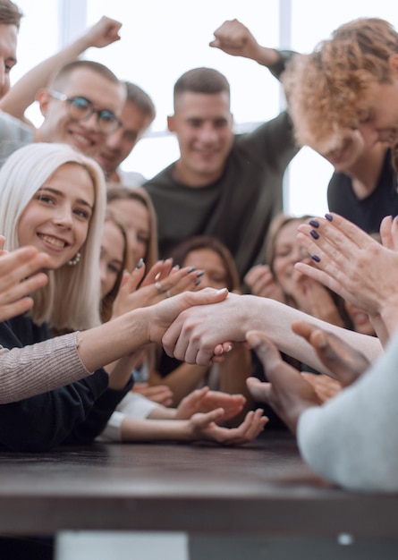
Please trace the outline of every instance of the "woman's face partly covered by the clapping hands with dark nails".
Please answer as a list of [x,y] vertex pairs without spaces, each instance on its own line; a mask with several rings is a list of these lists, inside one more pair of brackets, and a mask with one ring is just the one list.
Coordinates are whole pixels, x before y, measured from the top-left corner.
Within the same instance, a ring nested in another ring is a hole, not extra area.
[[297,271],[294,269],[296,262],[308,260],[309,254],[296,239],[297,228],[305,223],[302,220],[292,220],[279,230],[275,237],[274,250],[274,275],[275,280],[281,285],[284,293],[292,293],[292,283]]

